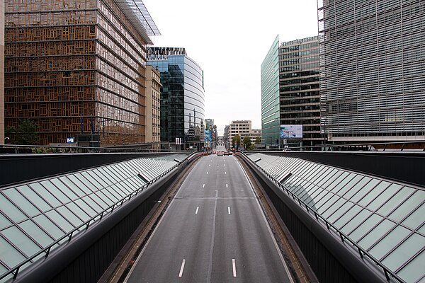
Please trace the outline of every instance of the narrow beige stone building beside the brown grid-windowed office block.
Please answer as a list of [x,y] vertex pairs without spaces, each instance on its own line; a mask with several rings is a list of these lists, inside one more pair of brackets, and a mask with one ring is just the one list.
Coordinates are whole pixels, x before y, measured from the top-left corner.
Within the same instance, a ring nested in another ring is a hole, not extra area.
[[161,76],[159,70],[146,67],[146,142],[161,141]]

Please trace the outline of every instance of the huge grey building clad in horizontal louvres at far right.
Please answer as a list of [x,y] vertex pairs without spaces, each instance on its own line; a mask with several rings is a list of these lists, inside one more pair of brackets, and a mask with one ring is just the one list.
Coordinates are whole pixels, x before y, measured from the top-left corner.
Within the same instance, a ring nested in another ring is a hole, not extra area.
[[322,132],[425,139],[424,1],[318,0]]

